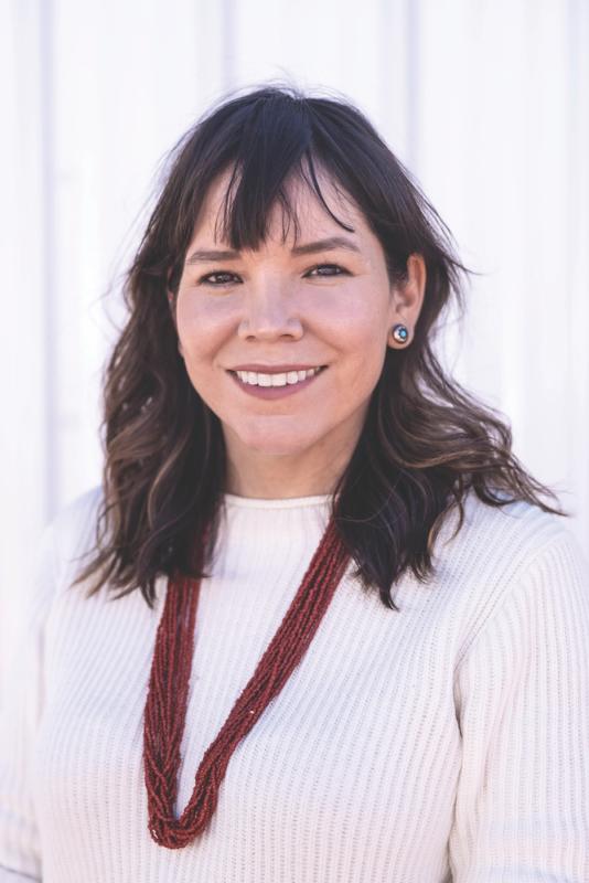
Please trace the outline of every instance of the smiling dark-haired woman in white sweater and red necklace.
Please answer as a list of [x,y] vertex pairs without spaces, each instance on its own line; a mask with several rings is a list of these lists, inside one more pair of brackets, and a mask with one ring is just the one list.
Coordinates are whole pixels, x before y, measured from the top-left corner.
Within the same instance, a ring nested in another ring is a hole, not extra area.
[[587,562],[433,355],[464,273],[344,102],[182,139],[41,552],[0,880],[589,880]]

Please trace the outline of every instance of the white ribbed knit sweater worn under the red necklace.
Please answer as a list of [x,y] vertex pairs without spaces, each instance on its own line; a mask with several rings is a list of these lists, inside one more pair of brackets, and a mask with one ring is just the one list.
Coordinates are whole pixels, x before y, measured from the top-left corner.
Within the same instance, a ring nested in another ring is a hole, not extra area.
[[[150,610],[68,588],[95,489],[47,529],[2,698],[0,881],[587,883],[589,565],[565,519],[474,496],[436,577],[365,593],[353,563],[310,648],[233,754],[210,827],[148,831]],[[225,496],[202,583],[176,815],[319,544],[329,496]]]

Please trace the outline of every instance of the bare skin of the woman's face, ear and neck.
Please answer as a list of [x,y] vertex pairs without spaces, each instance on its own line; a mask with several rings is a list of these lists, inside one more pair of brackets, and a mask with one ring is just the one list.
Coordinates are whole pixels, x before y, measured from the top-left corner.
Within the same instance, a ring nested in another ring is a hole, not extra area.
[[[225,173],[211,185],[186,251],[175,304],[179,350],[194,389],[221,421],[226,491],[268,499],[329,493],[357,443],[386,348],[403,348],[392,327],[403,322],[411,339],[424,299],[425,262],[410,255],[407,280],[392,286],[385,254],[364,215],[323,177],[328,204],[354,233],[336,224],[304,183],[292,181],[297,244],[343,236],[357,252],[339,246],[292,255],[294,232],[291,225],[282,242],[277,205],[260,249],[190,263],[196,249],[231,248],[215,238],[227,182]],[[203,278],[211,274],[217,275]],[[243,392],[227,373],[245,363],[328,369],[307,389],[269,401]]]

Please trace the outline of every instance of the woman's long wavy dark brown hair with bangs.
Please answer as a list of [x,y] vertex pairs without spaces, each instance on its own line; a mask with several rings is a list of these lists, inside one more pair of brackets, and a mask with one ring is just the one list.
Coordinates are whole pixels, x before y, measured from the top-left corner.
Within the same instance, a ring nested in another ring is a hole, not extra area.
[[[387,349],[356,448],[333,497],[340,535],[365,591],[390,589],[410,567],[420,582],[433,572],[442,521],[473,490],[484,503],[526,500],[567,515],[538,494],[556,494],[531,477],[512,453],[512,433],[445,374],[433,334],[453,298],[464,312],[470,270],[411,174],[365,116],[347,100],[310,97],[267,85],[233,94],[212,108],[170,153],[161,192],[124,285],[128,321],[104,383],[105,464],[96,546],[76,583],[94,577],[117,598],[139,588],[151,607],[156,578],[175,570],[207,574],[225,482],[221,423],[195,392],[178,352],[174,296],[199,211],[211,182],[233,170],[223,234],[234,249],[264,242],[278,200],[290,217],[285,182],[299,177],[321,194],[317,170],[355,201],[384,249],[392,280],[406,278],[407,258],[422,255],[427,283],[410,345]],[[342,226],[346,226],[332,216]],[[349,227],[346,227],[349,230]],[[202,567],[194,538],[208,528]],[[74,584],[74,585],[75,585]]]

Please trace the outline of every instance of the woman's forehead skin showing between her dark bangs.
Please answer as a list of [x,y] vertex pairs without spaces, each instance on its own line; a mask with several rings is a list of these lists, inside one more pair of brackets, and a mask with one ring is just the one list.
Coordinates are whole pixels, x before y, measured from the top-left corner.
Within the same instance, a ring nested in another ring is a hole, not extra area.
[[[292,173],[285,180],[267,212],[268,238],[297,244],[310,237],[342,233],[351,238],[371,237],[367,221],[350,194],[321,170],[317,171],[317,180],[326,206],[302,175]],[[232,181],[231,169],[213,180],[194,225],[193,242],[206,238],[215,244],[227,243],[224,234],[238,184],[239,177]]]

